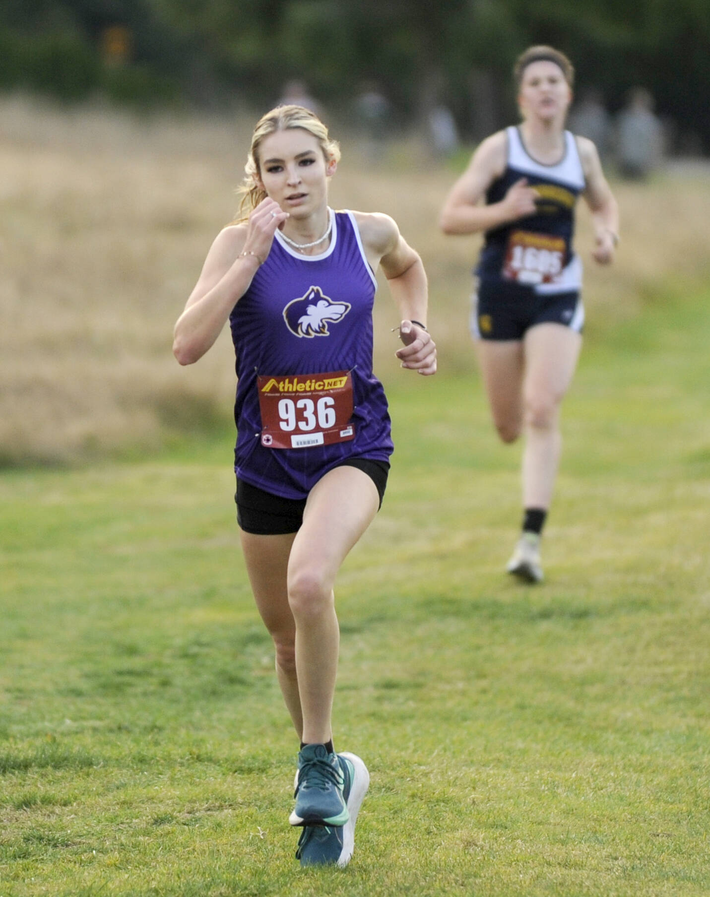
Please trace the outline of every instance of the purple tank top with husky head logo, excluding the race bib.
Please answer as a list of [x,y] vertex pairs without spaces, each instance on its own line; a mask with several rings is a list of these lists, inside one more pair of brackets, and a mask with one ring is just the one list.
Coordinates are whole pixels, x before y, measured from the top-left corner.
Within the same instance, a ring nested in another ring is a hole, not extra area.
[[[384,389],[373,375],[373,301],[377,282],[355,218],[333,212],[329,248],[302,256],[279,231],[230,327],[239,381],[234,405],[234,470],[251,485],[303,499],[320,477],[349,457],[386,461],[393,450]],[[262,445],[260,376],[350,371],[355,438],[304,448]]]

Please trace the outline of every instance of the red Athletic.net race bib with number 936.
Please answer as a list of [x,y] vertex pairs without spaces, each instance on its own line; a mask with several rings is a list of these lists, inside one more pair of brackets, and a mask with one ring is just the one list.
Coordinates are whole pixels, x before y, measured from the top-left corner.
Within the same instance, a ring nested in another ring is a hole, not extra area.
[[258,377],[257,388],[262,446],[309,448],[355,439],[348,370]]

